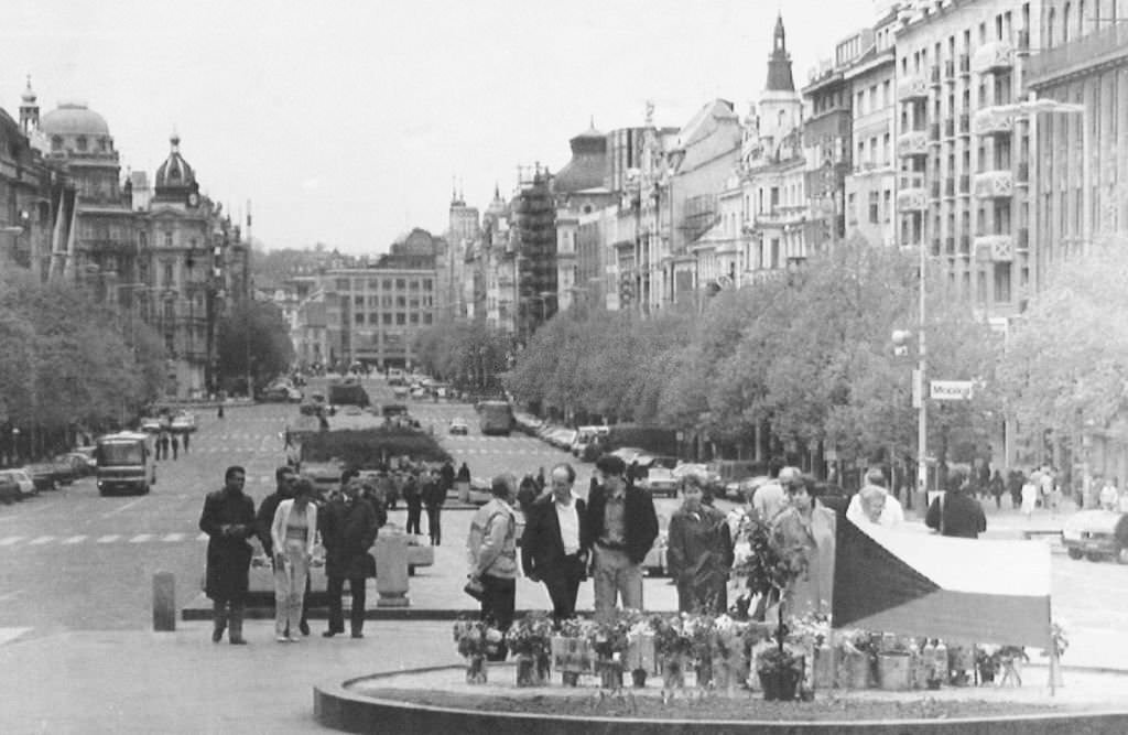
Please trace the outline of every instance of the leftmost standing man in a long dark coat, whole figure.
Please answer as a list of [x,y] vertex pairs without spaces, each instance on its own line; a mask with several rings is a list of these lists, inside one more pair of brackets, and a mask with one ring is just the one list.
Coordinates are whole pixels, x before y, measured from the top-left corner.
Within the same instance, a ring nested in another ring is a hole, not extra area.
[[243,492],[246,481],[243,467],[228,467],[223,489],[208,493],[200,516],[200,530],[210,536],[204,592],[212,598],[212,641],[218,644],[230,625],[230,641],[235,646],[247,642],[243,638],[252,555],[247,539],[256,531],[255,501]]

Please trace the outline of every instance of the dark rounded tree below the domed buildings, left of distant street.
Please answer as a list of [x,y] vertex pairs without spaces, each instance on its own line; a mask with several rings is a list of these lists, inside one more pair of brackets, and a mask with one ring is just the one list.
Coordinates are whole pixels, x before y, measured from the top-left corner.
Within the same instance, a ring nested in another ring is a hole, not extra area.
[[246,388],[247,376],[265,386],[293,362],[294,351],[282,310],[271,301],[238,301],[219,323],[220,384]]

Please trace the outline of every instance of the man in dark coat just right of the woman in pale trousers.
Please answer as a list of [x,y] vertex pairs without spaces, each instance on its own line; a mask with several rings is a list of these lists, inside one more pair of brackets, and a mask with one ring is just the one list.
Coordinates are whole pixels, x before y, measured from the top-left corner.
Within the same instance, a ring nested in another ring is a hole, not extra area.
[[343,498],[332,501],[320,517],[321,543],[325,545],[326,594],[329,597],[329,628],[323,636],[332,638],[345,632],[341,594],[345,579],[352,593],[350,623],[353,638],[363,638],[364,580],[376,576],[376,560],[368,550],[376,541],[376,511],[360,498],[360,483],[350,481]]

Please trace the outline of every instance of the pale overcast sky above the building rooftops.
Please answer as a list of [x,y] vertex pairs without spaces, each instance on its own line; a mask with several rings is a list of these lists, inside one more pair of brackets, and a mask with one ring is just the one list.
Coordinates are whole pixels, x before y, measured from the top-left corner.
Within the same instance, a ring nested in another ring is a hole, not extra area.
[[447,225],[451,177],[486,207],[517,166],[559,169],[602,131],[681,125],[714,97],[743,115],[783,11],[795,82],[873,19],[872,0],[6,0],[0,106],[25,75],[45,114],[100,113],[122,166],[179,132],[202,189],[271,248],[386,252]]

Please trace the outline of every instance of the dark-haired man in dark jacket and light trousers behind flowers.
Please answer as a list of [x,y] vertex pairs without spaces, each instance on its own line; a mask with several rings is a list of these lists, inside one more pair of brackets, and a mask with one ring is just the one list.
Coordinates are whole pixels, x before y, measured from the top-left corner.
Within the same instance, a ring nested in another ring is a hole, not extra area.
[[642,562],[658,537],[658,515],[650,493],[627,482],[622,458],[605,454],[596,470],[600,484],[588,496],[588,528],[596,615],[606,620],[618,597],[625,609],[643,609]]

